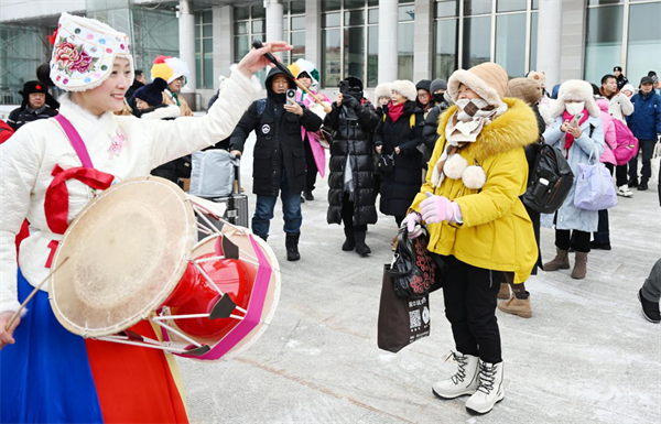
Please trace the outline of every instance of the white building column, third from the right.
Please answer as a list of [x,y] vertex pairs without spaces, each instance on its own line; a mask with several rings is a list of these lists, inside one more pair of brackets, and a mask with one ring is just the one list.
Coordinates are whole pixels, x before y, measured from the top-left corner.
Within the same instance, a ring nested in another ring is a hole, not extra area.
[[379,1],[379,84],[397,79],[398,0]]

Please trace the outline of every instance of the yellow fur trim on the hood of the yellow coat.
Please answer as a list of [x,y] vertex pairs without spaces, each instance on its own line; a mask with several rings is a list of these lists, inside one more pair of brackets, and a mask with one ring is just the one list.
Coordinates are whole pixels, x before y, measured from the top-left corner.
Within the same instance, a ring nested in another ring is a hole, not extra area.
[[[537,118],[532,109],[523,100],[505,98],[502,101],[507,104],[508,110],[485,126],[477,140],[468,148],[478,161],[523,148],[539,139]],[[457,106],[453,105],[438,119],[438,141],[442,143],[445,142],[445,127],[456,110]]]

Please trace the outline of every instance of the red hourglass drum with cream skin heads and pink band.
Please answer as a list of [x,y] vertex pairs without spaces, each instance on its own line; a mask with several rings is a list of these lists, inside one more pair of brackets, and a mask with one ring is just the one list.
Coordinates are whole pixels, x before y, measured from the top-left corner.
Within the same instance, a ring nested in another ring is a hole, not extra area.
[[[69,225],[53,267],[51,305],[69,331],[216,360],[266,330],[280,296],[275,256],[221,205],[159,177],[116,184]],[[196,243],[197,235],[206,233]],[[158,340],[129,328],[161,327]]]

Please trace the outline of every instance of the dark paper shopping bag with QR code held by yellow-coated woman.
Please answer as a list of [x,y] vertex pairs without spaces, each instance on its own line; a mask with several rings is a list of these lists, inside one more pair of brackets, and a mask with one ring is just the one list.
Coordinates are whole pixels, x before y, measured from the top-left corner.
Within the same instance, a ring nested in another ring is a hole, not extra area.
[[405,298],[394,294],[394,281],[384,265],[377,345],[397,354],[413,341],[430,335],[430,296]]

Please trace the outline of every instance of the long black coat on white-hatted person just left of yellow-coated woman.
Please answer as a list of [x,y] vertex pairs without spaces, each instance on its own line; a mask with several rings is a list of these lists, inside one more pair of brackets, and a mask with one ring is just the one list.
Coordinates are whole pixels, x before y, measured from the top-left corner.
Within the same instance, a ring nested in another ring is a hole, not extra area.
[[[422,185],[422,153],[418,145],[422,143],[424,116],[414,101],[407,101],[403,115],[393,122],[383,107],[386,121],[381,121],[375,134],[375,145],[382,145],[381,154],[394,153],[394,171],[381,175],[381,203],[379,209],[386,215],[403,217],[420,192]],[[411,115],[415,115],[415,124],[411,128]]]

